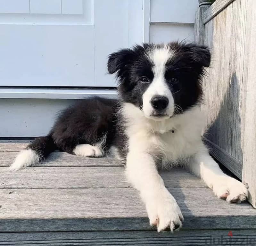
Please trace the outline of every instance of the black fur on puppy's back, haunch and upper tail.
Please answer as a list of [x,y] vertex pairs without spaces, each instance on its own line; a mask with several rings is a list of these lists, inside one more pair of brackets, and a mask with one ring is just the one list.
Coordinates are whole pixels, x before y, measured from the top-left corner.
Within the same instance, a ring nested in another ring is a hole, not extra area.
[[115,136],[116,104],[116,100],[101,97],[79,100],[60,113],[48,136],[36,138],[27,148],[37,151],[43,160],[54,150],[74,154],[76,145],[95,144],[107,134],[106,150]]

